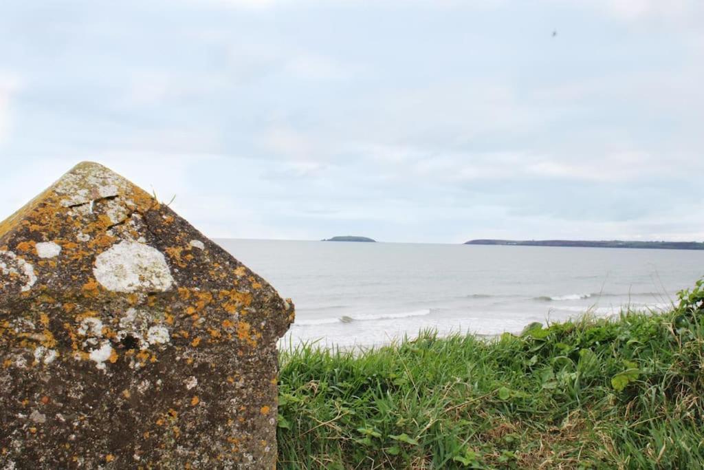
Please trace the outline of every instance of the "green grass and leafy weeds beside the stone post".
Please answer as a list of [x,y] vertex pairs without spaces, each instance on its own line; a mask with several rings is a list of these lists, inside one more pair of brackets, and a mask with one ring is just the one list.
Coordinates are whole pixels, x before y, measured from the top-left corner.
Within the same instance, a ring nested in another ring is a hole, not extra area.
[[704,282],[625,312],[486,341],[282,352],[284,469],[702,469]]

